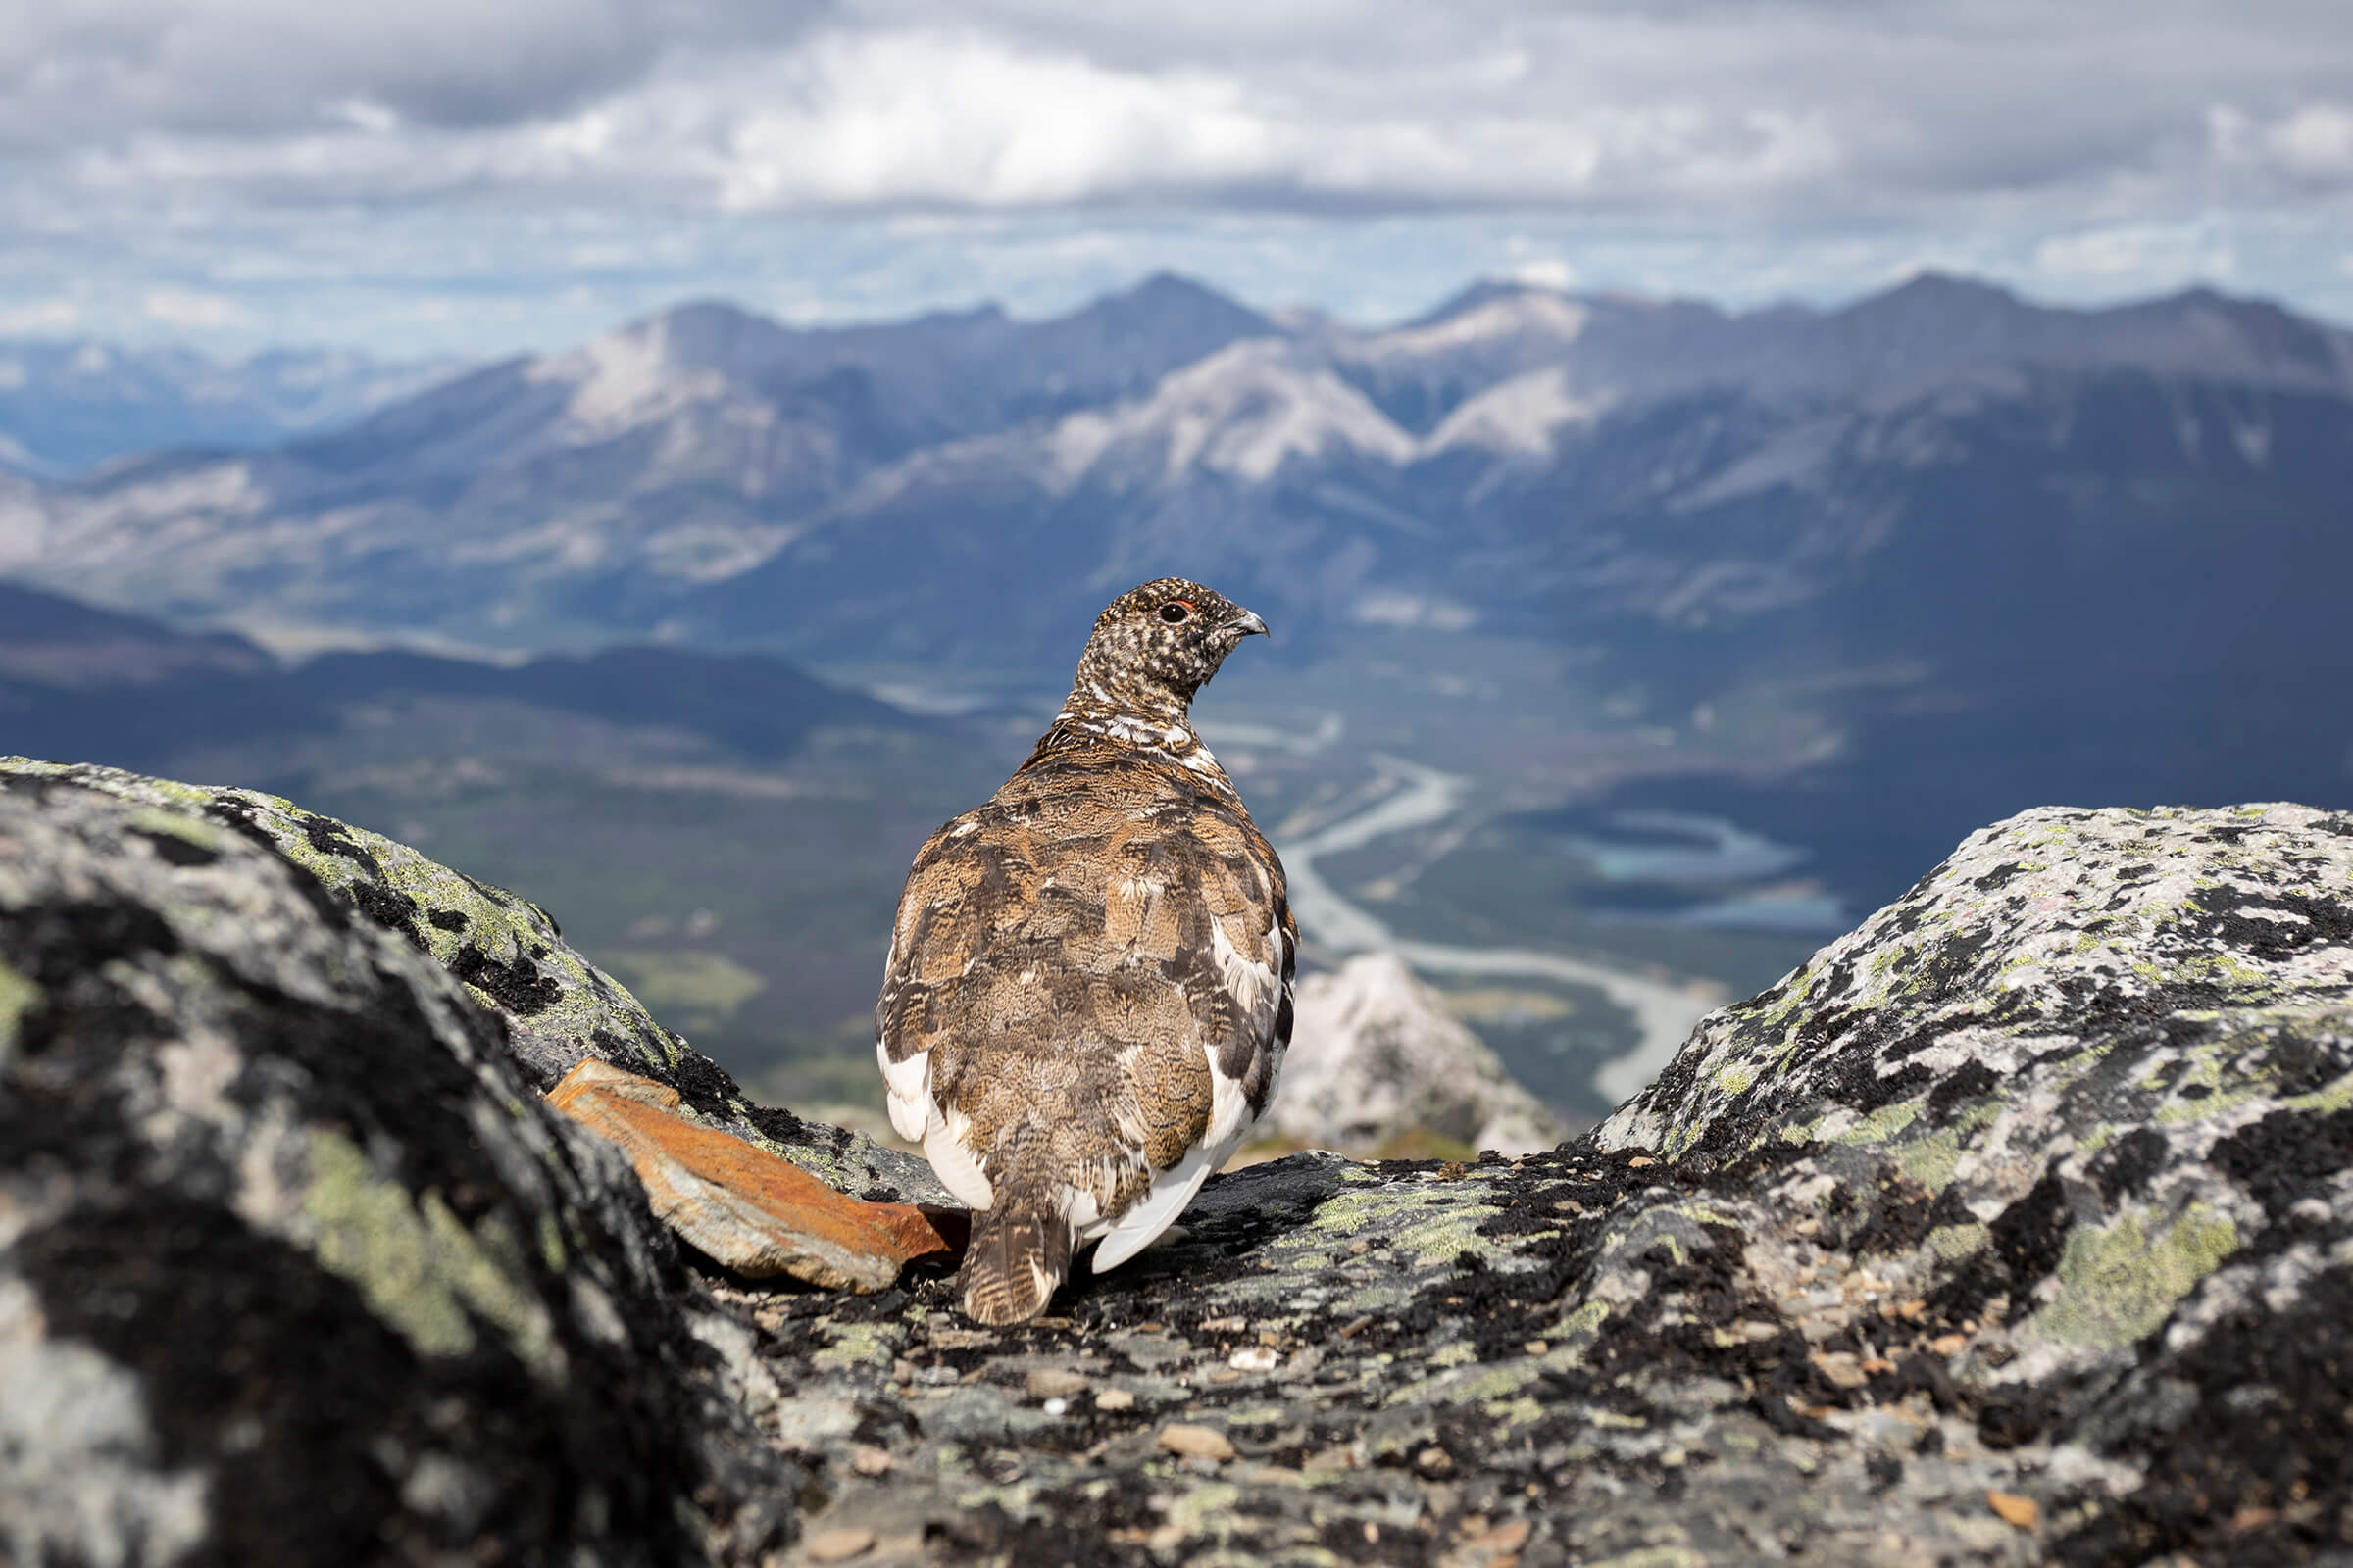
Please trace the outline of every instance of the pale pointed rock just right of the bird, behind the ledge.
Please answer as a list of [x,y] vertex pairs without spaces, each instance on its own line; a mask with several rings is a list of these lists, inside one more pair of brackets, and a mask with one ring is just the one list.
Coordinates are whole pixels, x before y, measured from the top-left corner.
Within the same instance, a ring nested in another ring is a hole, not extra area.
[[1292,1048],[1266,1131],[1346,1154],[1381,1152],[1407,1133],[1527,1154],[1567,1133],[1558,1112],[1527,1093],[1391,952],[1365,952],[1299,980]]

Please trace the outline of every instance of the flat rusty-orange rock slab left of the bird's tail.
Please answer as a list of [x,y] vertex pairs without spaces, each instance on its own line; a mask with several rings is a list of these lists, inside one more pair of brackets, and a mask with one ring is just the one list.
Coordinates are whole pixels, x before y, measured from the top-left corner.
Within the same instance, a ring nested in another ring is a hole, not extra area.
[[548,1103],[621,1145],[671,1229],[739,1274],[791,1274],[812,1286],[882,1291],[915,1258],[953,1262],[965,1213],[866,1204],[788,1159],[678,1114],[678,1091],[595,1058]]

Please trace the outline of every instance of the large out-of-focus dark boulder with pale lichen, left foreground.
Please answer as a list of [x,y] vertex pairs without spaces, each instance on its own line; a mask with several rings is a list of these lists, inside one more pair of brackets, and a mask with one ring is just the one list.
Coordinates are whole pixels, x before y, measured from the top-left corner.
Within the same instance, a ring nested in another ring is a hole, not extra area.
[[0,773],[0,1559],[786,1540],[739,1331],[504,1044],[216,818]]

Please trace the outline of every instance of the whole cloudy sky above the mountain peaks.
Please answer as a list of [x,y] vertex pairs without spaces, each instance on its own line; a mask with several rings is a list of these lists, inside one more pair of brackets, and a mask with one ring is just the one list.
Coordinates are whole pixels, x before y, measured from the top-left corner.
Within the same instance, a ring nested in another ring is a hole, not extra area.
[[2353,0],[0,0],[0,336],[1922,266],[2353,320]]

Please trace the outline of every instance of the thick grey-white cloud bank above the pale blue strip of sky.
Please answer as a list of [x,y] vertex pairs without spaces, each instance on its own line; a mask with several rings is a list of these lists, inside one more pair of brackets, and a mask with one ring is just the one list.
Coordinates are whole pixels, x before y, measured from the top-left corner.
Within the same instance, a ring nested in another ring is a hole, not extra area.
[[0,35],[0,148],[101,190],[706,212],[1172,193],[1327,212],[1885,216],[2353,167],[2339,0],[78,0]]

